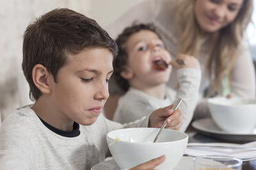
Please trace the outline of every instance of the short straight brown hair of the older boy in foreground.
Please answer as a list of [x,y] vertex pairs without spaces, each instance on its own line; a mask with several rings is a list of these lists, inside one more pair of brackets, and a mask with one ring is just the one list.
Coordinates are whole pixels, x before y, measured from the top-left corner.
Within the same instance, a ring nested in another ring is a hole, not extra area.
[[30,23],[23,38],[22,68],[32,100],[42,95],[32,80],[36,64],[45,66],[57,82],[58,71],[65,64],[67,54],[79,53],[86,47],[103,47],[115,58],[118,50],[116,42],[96,21],[67,8],[47,12]]

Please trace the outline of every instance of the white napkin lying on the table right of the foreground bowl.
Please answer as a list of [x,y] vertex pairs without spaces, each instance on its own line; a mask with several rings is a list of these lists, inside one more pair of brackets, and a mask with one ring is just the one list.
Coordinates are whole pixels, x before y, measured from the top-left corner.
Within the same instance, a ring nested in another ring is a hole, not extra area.
[[220,155],[234,156],[242,160],[250,160],[256,158],[256,150],[231,149],[228,147],[253,147],[256,148],[256,141],[245,144],[233,143],[188,143],[188,146],[225,146],[227,148],[204,148],[204,147],[187,147],[184,154],[189,156],[205,156],[205,155]]

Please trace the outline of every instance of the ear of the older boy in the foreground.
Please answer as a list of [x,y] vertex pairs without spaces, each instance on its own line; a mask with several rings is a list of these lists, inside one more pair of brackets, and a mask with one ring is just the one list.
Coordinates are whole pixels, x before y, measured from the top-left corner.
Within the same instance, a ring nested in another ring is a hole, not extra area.
[[41,93],[50,93],[50,74],[42,64],[36,64],[32,70],[34,85]]

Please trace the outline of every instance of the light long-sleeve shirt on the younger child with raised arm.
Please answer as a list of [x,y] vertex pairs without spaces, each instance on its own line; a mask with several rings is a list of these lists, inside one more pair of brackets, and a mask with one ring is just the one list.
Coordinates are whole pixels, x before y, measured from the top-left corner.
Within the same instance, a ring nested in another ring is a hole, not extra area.
[[166,88],[165,99],[157,99],[136,88],[130,87],[125,95],[118,101],[118,107],[114,113],[114,121],[128,123],[149,116],[153,110],[164,108],[173,104],[176,100],[182,99],[180,110],[182,112],[182,127],[184,132],[193,117],[193,111],[198,103],[198,90],[201,80],[199,69],[178,69],[178,82],[180,88],[173,90]]

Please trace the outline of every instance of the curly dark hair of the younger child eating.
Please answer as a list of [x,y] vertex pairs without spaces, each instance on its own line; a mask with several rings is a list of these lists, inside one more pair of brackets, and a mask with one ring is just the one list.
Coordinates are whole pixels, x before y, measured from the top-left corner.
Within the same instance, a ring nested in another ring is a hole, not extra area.
[[120,75],[122,71],[125,71],[125,66],[127,65],[127,61],[128,61],[126,43],[127,43],[127,40],[130,38],[130,36],[132,36],[137,32],[140,32],[141,30],[149,30],[151,32],[154,32],[161,39],[160,34],[156,32],[156,27],[153,25],[153,23],[148,23],[148,24],[134,23],[130,27],[126,27],[116,39],[116,44],[118,45],[119,51],[118,51],[117,58],[115,58],[113,62],[113,67],[114,67],[113,77],[118,87],[124,92],[127,92],[130,86],[129,82]]

